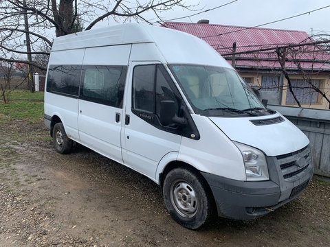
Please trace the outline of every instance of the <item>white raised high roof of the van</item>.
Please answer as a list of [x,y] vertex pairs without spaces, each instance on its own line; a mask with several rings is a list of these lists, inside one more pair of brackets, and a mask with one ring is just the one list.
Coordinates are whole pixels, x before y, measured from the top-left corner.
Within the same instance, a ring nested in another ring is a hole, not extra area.
[[[52,52],[141,43],[154,44],[159,51],[157,60],[164,58],[167,63],[230,67],[217,51],[196,36],[165,27],[137,23],[113,25],[58,37],[54,40]],[[146,49],[143,53],[151,52],[146,47],[143,49]],[[62,62],[66,59],[69,58],[63,58]]]

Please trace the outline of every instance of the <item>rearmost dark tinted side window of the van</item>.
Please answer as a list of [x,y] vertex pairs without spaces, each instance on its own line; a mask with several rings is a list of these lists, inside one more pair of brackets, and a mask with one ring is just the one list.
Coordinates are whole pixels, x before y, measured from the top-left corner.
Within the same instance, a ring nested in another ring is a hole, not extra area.
[[78,97],[81,65],[50,65],[47,92]]

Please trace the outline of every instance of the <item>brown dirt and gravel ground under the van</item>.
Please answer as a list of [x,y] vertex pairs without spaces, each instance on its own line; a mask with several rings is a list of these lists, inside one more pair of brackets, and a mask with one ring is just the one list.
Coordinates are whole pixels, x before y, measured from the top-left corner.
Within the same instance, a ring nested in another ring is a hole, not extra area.
[[329,246],[330,185],[257,220],[176,224],[159,187],[77,145],[55,152],[43,122],[0,123],[0,246]]

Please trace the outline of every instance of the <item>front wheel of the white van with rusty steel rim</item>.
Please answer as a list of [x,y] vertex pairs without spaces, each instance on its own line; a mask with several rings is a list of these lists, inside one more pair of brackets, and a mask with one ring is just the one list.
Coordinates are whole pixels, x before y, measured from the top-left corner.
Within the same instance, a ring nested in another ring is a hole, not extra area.
[[206,182],[192,169],[175,168],[164,179],[163,196],[173,220],[195,230],[210,220],[212,199]]

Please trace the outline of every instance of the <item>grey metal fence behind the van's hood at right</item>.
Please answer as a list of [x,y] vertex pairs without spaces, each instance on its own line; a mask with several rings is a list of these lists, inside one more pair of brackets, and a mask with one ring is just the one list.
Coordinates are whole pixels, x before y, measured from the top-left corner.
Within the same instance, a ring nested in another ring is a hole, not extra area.
[[330,177],[330,110],[268,107],[287,117],[307,135],[313,152],[314,174]]

